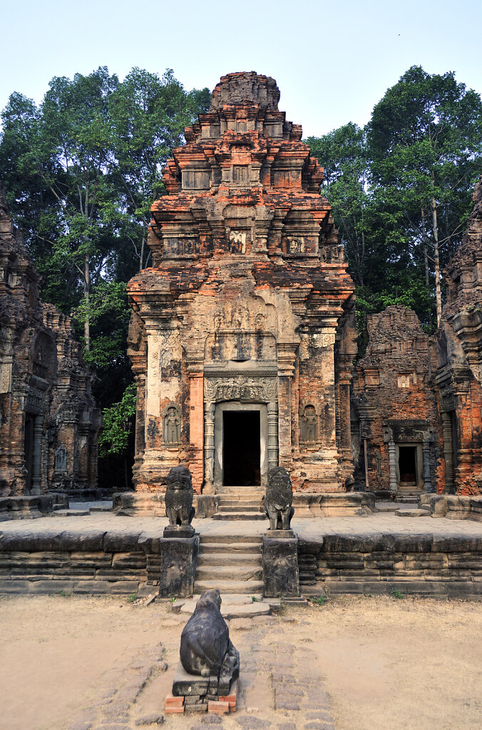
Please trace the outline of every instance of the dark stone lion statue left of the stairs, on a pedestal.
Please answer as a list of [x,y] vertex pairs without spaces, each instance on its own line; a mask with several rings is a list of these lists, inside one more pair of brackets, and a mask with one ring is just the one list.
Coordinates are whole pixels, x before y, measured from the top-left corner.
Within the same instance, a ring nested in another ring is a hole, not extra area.
[[193,479],[187,466],[173,466],[168,474],[166,487],[166,516],[169,524],[164,528],[164,537],[193,537],[191,526],[195,509],[193,507]]

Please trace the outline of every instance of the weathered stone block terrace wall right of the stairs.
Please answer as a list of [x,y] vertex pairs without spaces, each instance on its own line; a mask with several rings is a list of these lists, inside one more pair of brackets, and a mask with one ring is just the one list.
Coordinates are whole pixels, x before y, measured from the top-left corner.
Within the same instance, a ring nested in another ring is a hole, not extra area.
[[482,537],[333,534],[300,539],[300,586],[310,593],[482,598]]

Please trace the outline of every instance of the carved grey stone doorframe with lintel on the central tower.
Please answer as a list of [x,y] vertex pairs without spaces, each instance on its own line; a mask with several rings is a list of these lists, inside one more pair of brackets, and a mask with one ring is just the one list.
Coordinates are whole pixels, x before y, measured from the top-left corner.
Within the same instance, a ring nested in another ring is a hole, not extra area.
[[260,413],[261,487],[268,468],[278,466],[278,396],[276,377],[246,374],[204,378],[204,488],[222,491],[222,412]]

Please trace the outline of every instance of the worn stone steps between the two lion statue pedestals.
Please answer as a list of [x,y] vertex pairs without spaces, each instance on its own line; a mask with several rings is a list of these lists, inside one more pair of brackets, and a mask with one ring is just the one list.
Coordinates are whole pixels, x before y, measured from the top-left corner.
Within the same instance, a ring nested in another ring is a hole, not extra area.
[[263,595],[263,538],[257,535],[201,535],[194,593]]

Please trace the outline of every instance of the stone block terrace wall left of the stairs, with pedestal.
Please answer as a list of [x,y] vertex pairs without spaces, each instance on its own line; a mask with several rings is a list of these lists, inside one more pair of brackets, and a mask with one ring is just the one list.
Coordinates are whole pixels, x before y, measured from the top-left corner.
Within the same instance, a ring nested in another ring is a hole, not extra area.
[[193,593],[198,537],[142,532],[0,534],[0,593]]

